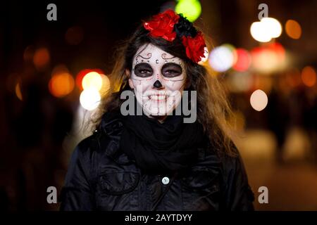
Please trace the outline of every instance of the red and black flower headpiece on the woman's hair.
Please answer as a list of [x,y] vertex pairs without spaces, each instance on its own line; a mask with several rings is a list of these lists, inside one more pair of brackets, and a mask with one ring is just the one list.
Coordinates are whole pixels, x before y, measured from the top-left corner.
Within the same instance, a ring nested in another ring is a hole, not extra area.
[[194,63],[204,58],[205,41],[201,32],[197,32],[192,23],[182,14],[176,14],[168,9],[163,13],[154,15],[152,20],[144,23],[151,37],[161,37],[167,41],[174,41],[179,37],[186,49],[186,56]]

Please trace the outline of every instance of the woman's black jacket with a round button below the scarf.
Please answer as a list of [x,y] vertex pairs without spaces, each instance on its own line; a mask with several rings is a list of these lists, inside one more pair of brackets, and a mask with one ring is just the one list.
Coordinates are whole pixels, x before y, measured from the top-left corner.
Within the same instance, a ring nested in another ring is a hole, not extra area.
[[254,210],[240,156],[199,149],[198,162],[178,174],[147,174],[119,148],[123,123],[100,129],[75,148],[60,210]]

